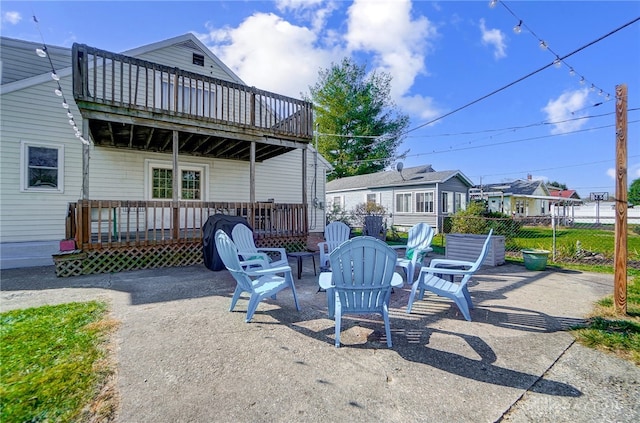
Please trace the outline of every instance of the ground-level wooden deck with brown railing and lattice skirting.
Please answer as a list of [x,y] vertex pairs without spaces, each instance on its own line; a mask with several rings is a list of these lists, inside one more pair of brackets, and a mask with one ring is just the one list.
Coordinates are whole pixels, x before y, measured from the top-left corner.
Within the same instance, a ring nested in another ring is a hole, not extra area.
[[241,216],[256,245],[304,251],[306,204],[80,200],[70,203],[66,238],[76,250],[54,255],[58,276],[187,266],[203,262],[209,216]]

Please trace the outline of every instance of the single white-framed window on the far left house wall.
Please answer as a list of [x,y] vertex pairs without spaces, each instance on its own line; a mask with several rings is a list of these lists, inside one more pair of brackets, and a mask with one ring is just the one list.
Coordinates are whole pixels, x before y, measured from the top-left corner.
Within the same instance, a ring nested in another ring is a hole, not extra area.
[[64,191],[64,146],[22,142],[21,190]]

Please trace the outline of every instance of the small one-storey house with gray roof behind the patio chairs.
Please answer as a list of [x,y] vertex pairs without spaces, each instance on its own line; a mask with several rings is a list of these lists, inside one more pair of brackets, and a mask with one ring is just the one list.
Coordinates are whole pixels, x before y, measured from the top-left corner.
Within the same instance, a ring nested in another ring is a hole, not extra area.
[[328,182],[327,207],[351,211],[374,202],[386,209],[389,226],[426,222],[441,231],[444,217],[466,207],[472,185],[459,170],[437,172],[430,165],[387,170]]

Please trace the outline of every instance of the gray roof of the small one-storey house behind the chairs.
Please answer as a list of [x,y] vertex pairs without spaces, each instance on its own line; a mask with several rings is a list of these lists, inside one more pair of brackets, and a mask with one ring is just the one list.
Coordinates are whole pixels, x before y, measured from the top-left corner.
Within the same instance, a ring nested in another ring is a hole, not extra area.
[[386,188],[407,185],[435,184],[459,177],[468,186],[473,185],[469,178],[459,170],[444,170],[436,172],[431,165],[409,167],[402,170],[385,170],[367,175],[348,176],[334,179],[327,183],[327,192],[344,191],[367,188]]

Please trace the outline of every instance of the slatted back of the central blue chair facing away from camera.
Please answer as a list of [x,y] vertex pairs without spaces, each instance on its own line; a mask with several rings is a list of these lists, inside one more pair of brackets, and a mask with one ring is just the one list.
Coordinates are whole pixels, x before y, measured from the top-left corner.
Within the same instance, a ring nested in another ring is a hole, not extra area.
[[393,249],[370,236],[352,238],[335,249],[329,260],[343,311],[379,311],[391,292],[396,259]]

